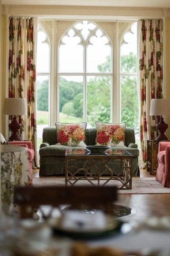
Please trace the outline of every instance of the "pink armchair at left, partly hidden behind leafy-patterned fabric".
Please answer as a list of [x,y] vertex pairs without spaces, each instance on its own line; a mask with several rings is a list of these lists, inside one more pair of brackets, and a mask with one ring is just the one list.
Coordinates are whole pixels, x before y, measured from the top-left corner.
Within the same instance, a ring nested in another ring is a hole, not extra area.
[[32,142],[31,141],[25,141],[25,140],[19,140],[19,141],[9,141],[9,144],[11,145],[17,145],[17,146],[22,146],[26,147],[28,154],[29,154],[29,167],[30,167],[30,175],[31,175],[31,183],[32,183],[32,178],[33,178],[33,171],[32,171],[32,160],[35,156],[35,151],[32,148]]

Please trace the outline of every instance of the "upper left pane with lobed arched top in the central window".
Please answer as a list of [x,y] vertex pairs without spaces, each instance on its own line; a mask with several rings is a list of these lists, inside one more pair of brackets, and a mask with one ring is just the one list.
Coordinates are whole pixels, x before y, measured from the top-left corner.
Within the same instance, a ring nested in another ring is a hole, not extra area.
[[63,36],[59,47],[59,72],[83,72],[84,49],[73,29]]

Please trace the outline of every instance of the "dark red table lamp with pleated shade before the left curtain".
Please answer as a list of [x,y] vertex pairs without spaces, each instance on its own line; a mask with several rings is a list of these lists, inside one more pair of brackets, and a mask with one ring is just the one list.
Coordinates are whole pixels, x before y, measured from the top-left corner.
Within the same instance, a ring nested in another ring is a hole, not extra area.
[[14,116],[13,121],[9,124],[9,129],[12,131],[12,135],[9,140],[20,140],[18,132],[21,128],[21,124],[17,122],[16,116],[27,115],[26,99],[5,98],[3,113],[5,115]]

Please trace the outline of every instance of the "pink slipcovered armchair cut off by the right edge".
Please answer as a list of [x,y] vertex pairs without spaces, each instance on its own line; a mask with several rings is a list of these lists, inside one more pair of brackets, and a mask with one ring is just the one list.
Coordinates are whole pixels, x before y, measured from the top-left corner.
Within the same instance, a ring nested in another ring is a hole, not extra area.
[[170,188],[170,142],[161,141],[158,145],[158,168],[156,180]]

